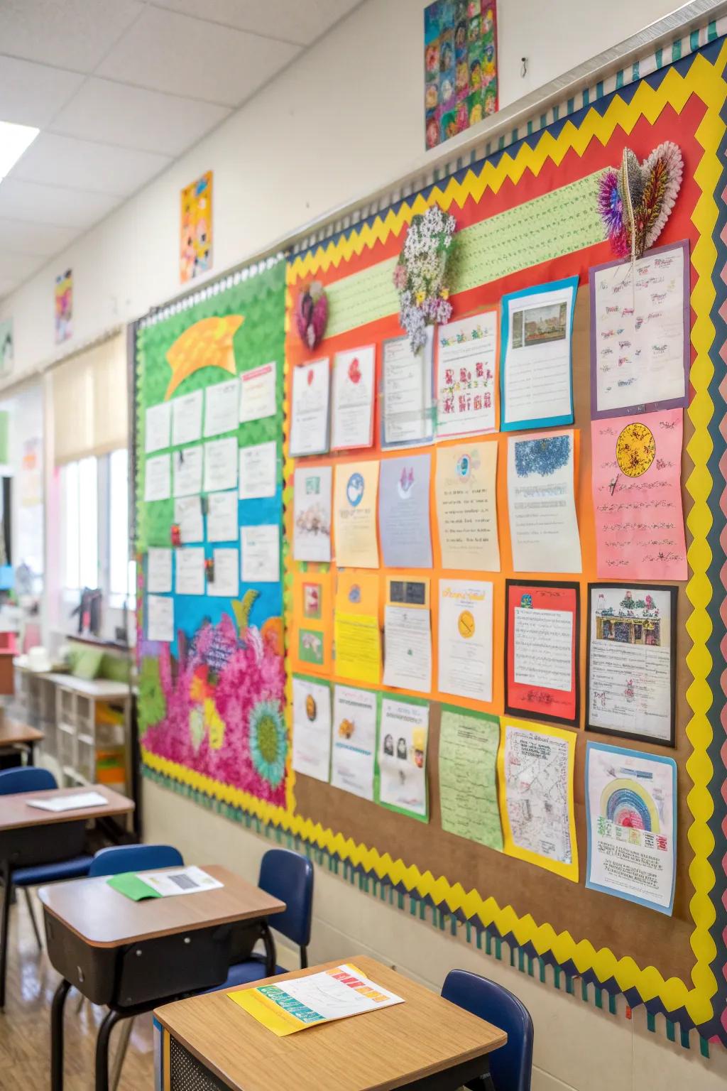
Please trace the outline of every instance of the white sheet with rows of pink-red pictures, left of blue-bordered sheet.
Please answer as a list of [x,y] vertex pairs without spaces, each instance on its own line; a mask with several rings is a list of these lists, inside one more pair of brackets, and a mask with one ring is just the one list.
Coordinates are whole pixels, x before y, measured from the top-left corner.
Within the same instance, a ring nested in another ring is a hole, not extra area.
[[437,331],[437,439],[494,432],[497,309]]

